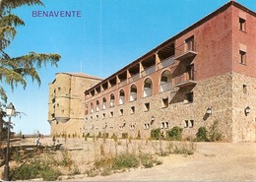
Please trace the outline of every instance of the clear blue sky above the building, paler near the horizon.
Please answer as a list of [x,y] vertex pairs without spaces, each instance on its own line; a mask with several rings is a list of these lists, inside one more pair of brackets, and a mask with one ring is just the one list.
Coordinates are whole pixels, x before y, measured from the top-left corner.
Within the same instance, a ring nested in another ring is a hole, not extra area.
[[[256,11],[251,0],[236,0]],[[186,29],[228,0],[43,0],[45,7],[14,11],[26,23],[6,49],[12,57],[59,53],[58,68],[40,69],[41,86],[28,79],[24,91],[8,92],[8,102],[25,112],[13,118],[15,132],[50,133],[47,122],[48,84],[59,72],[83,72],[106,78],[120,68]],[[32,11],[81,11],[81,17],[32,17]]]

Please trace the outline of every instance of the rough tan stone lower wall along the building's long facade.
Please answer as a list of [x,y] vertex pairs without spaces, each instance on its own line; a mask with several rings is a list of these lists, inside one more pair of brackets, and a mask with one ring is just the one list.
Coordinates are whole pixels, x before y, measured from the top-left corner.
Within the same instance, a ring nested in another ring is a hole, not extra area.
[[[161,128],[165,133],[166,130],[179,126],[183,128],[185,138],[195,136],[201,126],[210,129],[213,123],[218,121],[224,141],[242,141],[243,139],[237,137],[236,131],[233,131],[232,122],[237,119],[233,118],[235,115],[232,109],[232,89],[236,83],[232,84],[232,81],[232,74],[229,73],[198,82],[195,87],[174,88],[124,105],[100,110],[86,115],[85,133],[115,133],[119,137],[122,133],[129,133],[129,136],[137,137],[140,131],[142,137],[148,138],[154,128]],[[187,100],[187,93],[191,91],[194,95],[192,102]],[[164,106],[162,99],[168,99],[167,107]],[[255,100],[255,97],[252,99]],[[150,110],[146,109],[146,103],[150,103]],[[132,113],[131,107],[135,108],[135,113]],[[207,108],[212,109],[212,115],[206,113]]]

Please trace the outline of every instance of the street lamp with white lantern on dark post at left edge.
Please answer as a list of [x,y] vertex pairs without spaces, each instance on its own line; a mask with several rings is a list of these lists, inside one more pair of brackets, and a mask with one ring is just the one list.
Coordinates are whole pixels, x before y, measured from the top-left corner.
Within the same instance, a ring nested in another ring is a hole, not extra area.
[[9,181],[10,124],[11,124],[11,117],[15,115],[15,107],[12,102],[6,106],[6,115],[9,117],[9,121],[7,124],[7,147],[6,147],[6,157],[5,157],[5,167],[4,167],[4,180]]

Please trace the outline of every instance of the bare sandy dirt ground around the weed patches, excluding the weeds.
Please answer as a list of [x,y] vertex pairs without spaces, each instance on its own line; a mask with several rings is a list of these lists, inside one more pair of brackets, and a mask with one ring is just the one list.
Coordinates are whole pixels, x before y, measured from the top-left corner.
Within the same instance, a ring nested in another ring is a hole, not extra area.
[[[24,141],[24,143],[33,141]],[[51,139],[41,140],[43,145],[51,145]],[[162,164],[153,168],[136,168],[108,176],[88,177],[85,171],[100,156],[99,146],[105,153],[141,151],[156,153],[159,141],[127,140],[114,141],[102,139],[58,139],[68,150],[81,174],[72,177],[62,176],[65,181],[256,181],[256,143],[195,143],[192,155],[169,154],[159,156]],[[165,149],[166,143],[161,144]],[[102,149],[102,148],[101,148]],[[3,166],[0,170],[3,169]]]

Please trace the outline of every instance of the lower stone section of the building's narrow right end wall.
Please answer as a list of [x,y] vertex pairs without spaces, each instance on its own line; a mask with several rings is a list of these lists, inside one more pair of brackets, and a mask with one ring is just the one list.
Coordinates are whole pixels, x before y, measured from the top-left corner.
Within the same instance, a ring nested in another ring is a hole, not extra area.
[[[256,78],[238,73],[232,76],[233,142],[255,141]],[[245,108],[249,107],[249,113]]]

